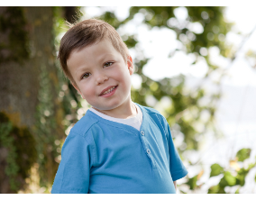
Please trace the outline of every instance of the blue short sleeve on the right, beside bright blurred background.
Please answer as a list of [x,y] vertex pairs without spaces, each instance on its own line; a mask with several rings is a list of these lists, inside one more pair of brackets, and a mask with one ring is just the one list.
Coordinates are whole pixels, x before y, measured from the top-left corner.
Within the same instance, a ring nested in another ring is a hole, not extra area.
[[183,165],[178,151],[176,150],[169,129],[169,124],[166,122],[167,139],[169,144],[169,171],[173,181],[187,175],[187,169]]

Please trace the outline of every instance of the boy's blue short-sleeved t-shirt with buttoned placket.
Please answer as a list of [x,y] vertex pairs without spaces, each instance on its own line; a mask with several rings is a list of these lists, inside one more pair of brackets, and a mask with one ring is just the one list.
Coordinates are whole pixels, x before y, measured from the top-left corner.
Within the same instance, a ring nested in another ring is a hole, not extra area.
[[166,194],[187,169],[174,147],[166,119],[139,105],[140,132],[91,111],[69,132],[51,193]]

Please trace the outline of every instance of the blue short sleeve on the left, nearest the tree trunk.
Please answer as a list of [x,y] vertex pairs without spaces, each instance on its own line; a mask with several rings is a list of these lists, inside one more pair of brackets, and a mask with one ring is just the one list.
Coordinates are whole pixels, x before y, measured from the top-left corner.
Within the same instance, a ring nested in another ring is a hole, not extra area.
[[89,177],[89,145],[82,135],[70,132],[61,150],[51,194],[87,194]]

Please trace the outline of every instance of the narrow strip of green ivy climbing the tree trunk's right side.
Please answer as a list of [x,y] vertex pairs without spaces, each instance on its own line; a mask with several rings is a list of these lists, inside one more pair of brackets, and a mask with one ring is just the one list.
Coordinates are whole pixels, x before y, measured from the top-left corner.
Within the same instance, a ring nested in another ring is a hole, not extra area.
[[[51,93],[50,76],[45,66],[41,66],[41,75],[39,77],[40,89],[37,105],[37,123],[36,125],[36,139],[37,139],[37,153],[39,155],[37,163],[39,164],[39,175],[41,177],[41,186],[48,186],[49,182],[53,181],[50,176],[50,171],[56,171],[58,164],[55,168],[50,164],[55,158],[59,156],[57,148],[59,145],[55,144],[57,134],[52,134],[56,130],[56,120],[53,114],[54,111],[54,96]],[[47,169],[47,170],[46,170]],[[53,173],[54,174],[54,173]]]

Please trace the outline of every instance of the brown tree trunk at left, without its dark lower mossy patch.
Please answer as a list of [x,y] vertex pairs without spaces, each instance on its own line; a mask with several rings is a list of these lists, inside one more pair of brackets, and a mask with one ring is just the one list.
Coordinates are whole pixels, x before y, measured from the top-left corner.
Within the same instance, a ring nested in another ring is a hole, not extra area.
[[[5,114],[13,126],[31,132],[40,156],[37,162],[41,172],[44,170],[43,182],[54,178],[59,165],[55,161],[54,141],[63,135],[53,33],[52,7],[0,7],[0,113]],[[14,136],[14,142],[17,138]],[[0,141],[0,160],[4,160],[2,151],[8,150],[4,147]],[[25,148],[16,148],[17,157]],[[3,155],[6,158],[6,153]],[[30,158],[30,155],[23,157]],[[6,161],[0,164],[0,170],[8,167]],[[21,170],[19,166],[17,176]],[[4,171],[0,171],[0,177]],[[0,179],[1,188],[5,185],[0,192],[16,192],[17,188],[6,186],[4,179],[8,180],[8,176]]]

